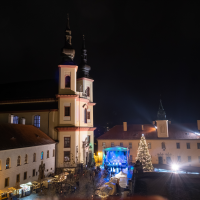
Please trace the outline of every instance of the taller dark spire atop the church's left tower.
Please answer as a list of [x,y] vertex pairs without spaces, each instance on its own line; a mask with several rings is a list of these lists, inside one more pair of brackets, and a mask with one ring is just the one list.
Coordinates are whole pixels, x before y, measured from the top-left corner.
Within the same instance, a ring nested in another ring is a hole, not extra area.
[[69,14],[67,14],[67,27],[65,36],[66,36],[65,46],[62,52],[63,61],[64,62],[73,61],[75,56],[75,50],[72,48],[72,36],[71,36],[71,29],[69,26]]

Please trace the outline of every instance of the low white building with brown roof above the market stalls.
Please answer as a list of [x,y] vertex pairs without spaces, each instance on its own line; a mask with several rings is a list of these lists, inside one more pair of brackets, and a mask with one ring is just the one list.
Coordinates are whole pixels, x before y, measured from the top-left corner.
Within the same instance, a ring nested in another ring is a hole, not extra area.
[[0,124],[0,190],[55,172],[55,141],[33,125]]

